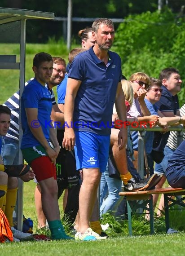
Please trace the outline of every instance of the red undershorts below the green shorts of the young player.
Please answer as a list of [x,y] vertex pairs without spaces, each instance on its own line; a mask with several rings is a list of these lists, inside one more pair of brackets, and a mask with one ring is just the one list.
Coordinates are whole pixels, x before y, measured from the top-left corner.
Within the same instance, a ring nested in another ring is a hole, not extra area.
[[30,165],[37,181],[43,181],[52,177],[54,180],[57,179],[55,165],[48,156],[35,158],[31,161]]

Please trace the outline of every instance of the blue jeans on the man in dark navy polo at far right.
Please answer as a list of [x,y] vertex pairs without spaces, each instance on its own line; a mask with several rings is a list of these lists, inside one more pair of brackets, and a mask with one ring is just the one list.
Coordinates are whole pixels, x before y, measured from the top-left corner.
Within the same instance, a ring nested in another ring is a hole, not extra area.
[[163,161],[161,163],[156,163],[155,164],[154,173],[157,173],[158,175],[161,175],[161,174],[165,175],[165,171],[166,171],[167,164],[168,164],[168,159],[171,158],[173,152],[174,152],[174,150],[172,150],[168,146],[165,146]]

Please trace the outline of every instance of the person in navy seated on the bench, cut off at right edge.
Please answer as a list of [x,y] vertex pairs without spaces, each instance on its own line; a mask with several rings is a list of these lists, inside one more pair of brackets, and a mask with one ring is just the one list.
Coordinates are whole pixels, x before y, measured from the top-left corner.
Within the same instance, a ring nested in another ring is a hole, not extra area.
[[167,182],[172,188],[185,188],[185,140],[177,147],[168,160],[165,171]]

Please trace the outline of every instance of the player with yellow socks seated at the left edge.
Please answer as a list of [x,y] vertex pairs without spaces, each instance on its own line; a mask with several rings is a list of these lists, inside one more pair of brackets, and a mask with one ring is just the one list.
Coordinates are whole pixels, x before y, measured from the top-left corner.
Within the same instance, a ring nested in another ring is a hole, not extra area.
[[[0,151],[2,146],[2,136],[5,136],[9,129],[10,115],[10,109],[7,106],[0,105]],[[4,166],[3,160],[0,156],[0,191],[4,191],[0,197],[0,208],[7,216],[9,225],[13,232],[13,240],[20,242],[19,238],[26,238],[31,234],[25,234],[13,228],[13,210],[18,190],[18,180],[13,176],[20,177],[24,181],[30,181],[34,179],[35,175],[29,166],[25,164]]]

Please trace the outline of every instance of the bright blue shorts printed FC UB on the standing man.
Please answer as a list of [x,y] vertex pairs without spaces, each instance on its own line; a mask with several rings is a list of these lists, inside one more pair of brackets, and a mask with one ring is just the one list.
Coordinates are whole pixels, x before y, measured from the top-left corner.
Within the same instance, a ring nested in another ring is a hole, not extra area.
[[76,169],[100,168],[100,172],[105,172],[109,156],[110,135],[75,132],[75,140]]

